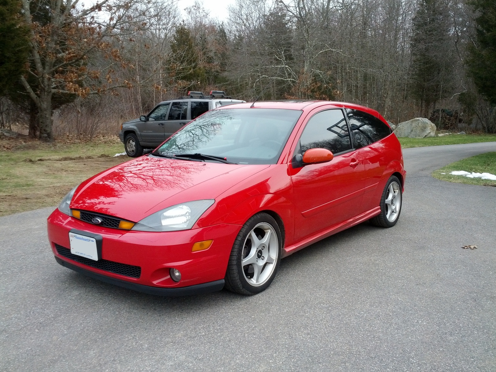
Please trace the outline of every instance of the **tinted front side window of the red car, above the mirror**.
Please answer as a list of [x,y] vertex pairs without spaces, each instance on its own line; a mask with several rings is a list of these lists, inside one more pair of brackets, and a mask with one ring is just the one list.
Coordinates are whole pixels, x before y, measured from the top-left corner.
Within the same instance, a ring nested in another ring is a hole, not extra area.
[[341,110],[313,115],[300,138],[302,155],[311,148],[325,148],[333,154],[351,149],[350,132]]

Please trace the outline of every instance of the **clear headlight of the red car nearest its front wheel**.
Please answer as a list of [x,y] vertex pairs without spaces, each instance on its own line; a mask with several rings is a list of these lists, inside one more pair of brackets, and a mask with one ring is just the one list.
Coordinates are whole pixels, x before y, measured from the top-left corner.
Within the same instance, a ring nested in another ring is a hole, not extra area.
[[214,203],[214,199],[187,201],[162,209],[143,218],[131,230],[177,231],[189,230],[198,218]]

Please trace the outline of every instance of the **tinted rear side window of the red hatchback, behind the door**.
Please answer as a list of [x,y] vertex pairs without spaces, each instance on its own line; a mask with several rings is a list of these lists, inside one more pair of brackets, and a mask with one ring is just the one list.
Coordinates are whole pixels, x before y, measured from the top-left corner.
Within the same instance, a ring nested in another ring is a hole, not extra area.
[[351,124],[355,148],[368,146],[391,134],[389,126],[371,114],[346,109],[346,115]]

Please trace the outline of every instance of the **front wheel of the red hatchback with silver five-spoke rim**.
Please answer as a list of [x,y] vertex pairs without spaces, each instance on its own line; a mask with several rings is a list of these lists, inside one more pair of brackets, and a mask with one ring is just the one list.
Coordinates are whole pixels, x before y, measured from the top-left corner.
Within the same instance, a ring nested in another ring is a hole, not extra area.
[[267,213],[255,214],[234,241],[225,288],[242,295],[264,291],[276,275],[281,252],[282,237],[277,222]]

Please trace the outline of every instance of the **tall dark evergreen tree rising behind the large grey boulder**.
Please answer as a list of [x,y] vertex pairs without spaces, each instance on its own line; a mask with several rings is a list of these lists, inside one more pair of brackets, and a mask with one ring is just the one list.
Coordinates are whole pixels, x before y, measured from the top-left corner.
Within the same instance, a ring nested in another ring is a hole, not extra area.
[[452,92],[453,43],[445,0],[420,0],[413,18],[412,93],[428,116],[431,105]]

